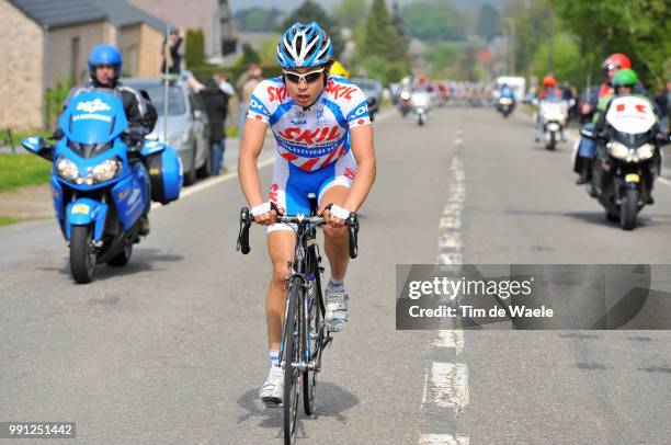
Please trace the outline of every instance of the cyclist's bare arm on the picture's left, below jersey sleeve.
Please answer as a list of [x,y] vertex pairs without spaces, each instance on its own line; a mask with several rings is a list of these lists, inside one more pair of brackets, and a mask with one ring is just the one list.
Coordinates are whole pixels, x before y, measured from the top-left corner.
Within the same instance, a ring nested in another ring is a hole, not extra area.
[[251,119],[244,122],[244,136],[238,156],[238,175],[240,176],[242,193],[244,193],[244,197],[251,207],[263,204],[257,161],[263,149],[266,128],[268,124],[263,122]]

